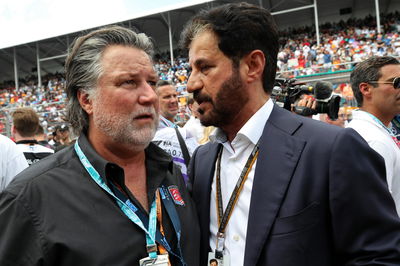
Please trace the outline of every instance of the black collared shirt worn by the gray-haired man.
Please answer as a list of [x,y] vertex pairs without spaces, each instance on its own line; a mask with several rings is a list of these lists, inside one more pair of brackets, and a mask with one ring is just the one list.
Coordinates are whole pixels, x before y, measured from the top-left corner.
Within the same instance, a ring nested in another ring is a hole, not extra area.
[[[84,134],[79,146],[101,177],[128,191],[123,169],[99,156]],[[198,221],[183,178],[171,157],[156,145],[150,144],[145,152],[149,204],[161,183],[178,188],[184,204],[174,206],[181,221],[183,256],[188,265],[198,265]],[[176,251],[176,234],[164,206],[162,223]],[[73,146],[32,165],[0,194],[2,266],[132,266],[147,256],[145,233],[92,180]],[[179,265],[173,256],[171,262]]]

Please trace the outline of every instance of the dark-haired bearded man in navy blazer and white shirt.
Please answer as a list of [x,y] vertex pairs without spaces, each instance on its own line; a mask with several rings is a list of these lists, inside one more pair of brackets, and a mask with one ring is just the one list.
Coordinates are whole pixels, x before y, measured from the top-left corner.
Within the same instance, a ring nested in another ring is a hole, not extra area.
[[181,42],[200,121],[218,127],[189,169],[201,265],[400,265],[382,158],[354,130],[272,102],[271,14],[247,3],[201,11]]

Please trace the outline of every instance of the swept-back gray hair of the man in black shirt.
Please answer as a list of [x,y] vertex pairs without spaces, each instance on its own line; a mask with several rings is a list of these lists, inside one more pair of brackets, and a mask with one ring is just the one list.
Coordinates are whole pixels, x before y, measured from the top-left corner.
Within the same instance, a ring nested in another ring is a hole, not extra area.
[[66,91],[68,96],[67,120],[76,135],[89,127],[89,117],[78,101],[78,91],[93,98],[97,81],[102,75],[101,58],[111,45],[123,45],[143,50],[150,58],[154,49],[150,38],[120,26],[108,26],[79,37],[72,44],[65,62]]

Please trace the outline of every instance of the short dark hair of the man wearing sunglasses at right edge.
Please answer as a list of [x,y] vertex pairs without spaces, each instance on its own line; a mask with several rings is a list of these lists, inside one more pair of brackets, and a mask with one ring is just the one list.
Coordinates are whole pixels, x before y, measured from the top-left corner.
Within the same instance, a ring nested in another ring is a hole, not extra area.
[[[360,91],[360,84],[363,82],[377,81],[381,78],[381,68],[386,65],[398,65],[400,62],[391,56],[372,56],[367,60],[360,62],[353,69],[350,75],[351,88],[358,106],[363,104],[363,95]],[[376,87],[376,84],[371,84]]]

